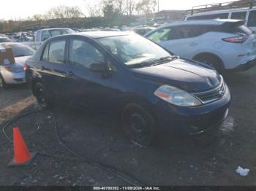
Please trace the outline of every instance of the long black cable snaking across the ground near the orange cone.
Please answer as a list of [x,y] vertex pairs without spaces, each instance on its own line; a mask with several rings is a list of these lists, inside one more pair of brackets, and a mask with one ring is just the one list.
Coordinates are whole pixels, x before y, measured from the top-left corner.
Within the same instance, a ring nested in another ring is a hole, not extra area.
[[[36,111],[32,111],[32,112],[26,112],[24,114],[20,114],[17,117],[12,118],[12,120],[7,122],[7,124],[4,125],[4,128],[2,128],[4,136],[7,138],[8,141],[13,143],[12,139],[10,139],[10,137],[7,136],[7,134],[5,133],[5,129],[8,128],[12,122],[14,122],[16,120],[19,120],[21,117],[26,117],[29,114],[35,114],[35,113],[44,112],[44,111],[45,110],[36,110]],[[56,137],[59,141],[59,144],[61,144],[61,146],[64,147],[64,149],[66,149],[67,151],[72,153],[72,155],[75,155],[75,157],[64,157],[64,156],[61,156],[61,155],[52,155],[52,154],[48,154],[48,153],[45,153],[45,152],[37,152],[39,155],[45,155],[45,156],[50,156],[50,157],[61,157],[61,158],[69,159],[69,160],[81,160],[80,162],[82,162],[82,163],[87,163],[89,165],[94,165],[94,166],[97,166],[98,168],[102,168],[104,171],[108,171],[108,173],[113,174],[114,176],[118,177],[118,179],[121,179],[124,182],[127,182],[127,183],[131,184],[132,186],[144,185],[142,182],[138,181],[138,179],[136,179],[134,176],[128,174],[127,172],[121,171],[118,168],[115,168],[111,165],[106,165],[104,163],[98,163],[98,162],[95,162],[95,161],[87,160],[85,157],[83,157],[83,156],[79,155],[78,153],[72,151],[72,149],[69,149],[69,147],[67,147],[63,143],[63,141],[61,141],[61,137],[59,136],[58,125],[57,125],[57,122],[56,122],[55,115],[52,112],[50,112],[50,114],[53,117],[54,129],[55,129]],[[126,177],[124,177],[124,176],[126,176]]]

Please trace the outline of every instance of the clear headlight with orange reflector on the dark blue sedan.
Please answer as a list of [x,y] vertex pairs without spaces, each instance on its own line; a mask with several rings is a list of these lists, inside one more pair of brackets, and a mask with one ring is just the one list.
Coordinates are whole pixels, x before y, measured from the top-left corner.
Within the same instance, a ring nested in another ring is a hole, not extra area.
[[162,85],[154,92],[154,95],[176,106],[199,106],[202,104],[193,95],[169,85]]

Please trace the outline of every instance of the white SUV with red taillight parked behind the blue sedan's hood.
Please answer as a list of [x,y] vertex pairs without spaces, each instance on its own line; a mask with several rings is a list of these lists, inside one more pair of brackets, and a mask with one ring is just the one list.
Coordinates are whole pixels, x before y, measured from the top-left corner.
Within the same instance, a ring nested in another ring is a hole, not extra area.
[[192,20],[169,23],[146,34],[182,58],[200,61],[222,73],[256,64],[256,35],[243,20]]

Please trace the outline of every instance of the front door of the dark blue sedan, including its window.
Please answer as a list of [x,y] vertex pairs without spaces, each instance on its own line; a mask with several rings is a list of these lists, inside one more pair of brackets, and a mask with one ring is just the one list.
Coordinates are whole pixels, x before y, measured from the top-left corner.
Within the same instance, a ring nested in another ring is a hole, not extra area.
[[111,75],[93,72],[91,63],[107,62],[104,53],[95,44],[86,39],[69,40],[69,73],[73,76],[70,104],[89,107],[94,110],[108,111],[110,99],[113,98]]

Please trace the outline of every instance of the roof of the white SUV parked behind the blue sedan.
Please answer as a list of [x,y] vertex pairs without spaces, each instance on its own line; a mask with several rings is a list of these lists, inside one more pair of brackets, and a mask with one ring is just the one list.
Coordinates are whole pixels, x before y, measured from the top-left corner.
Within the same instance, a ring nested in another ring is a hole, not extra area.
[[236,23],[241,20],[235,20],[235,19],[214,19],[214,20],[186,20],[186,21],[178,21],[175,23],[167,23],[162,26],[181,26],[181,25],[212,25],[212,26],[220,26],[224,23]]

